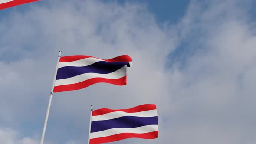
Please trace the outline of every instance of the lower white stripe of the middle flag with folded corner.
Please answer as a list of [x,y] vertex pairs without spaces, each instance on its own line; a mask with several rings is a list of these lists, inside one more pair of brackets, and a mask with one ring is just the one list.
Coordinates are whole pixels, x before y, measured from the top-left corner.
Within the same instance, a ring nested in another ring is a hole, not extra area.
[[122,68],[116,70],[115,72],[111,72],[108,74],[84,73],[81,75],[74,76],[72,78],[58,79],[55,82],[55,86],[75,84],[92,78],[119,79],[126,75],[126,68],[127,66],[125,65]]

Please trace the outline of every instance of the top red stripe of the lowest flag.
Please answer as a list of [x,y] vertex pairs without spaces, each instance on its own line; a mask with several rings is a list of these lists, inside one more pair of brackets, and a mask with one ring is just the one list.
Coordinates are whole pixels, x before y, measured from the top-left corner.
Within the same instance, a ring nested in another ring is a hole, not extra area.
[[154,109],[157,109],[156,105],[154,105],[154,104],[139,105],[139,106],[129,108],[129,109],[118,109],[118,110],[101,108],[101,109],[92,111],[92,116],[103,115],[103,114],[107,114],[107,113],[115,112],[115,111],[124,111],[127,113],[133,113],[133,112],[149,111],[149,110],[154,110]]

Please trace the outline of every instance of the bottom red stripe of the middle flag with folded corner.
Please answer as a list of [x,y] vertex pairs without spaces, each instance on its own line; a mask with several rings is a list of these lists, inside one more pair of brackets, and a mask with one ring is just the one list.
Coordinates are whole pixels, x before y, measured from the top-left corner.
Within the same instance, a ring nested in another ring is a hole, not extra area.
[[110,83],[114,85],[126,85],[126,76],[119,79],[92,78],[75,84],[59,85],[54,87],[53,92],[78,90],[100,82]]

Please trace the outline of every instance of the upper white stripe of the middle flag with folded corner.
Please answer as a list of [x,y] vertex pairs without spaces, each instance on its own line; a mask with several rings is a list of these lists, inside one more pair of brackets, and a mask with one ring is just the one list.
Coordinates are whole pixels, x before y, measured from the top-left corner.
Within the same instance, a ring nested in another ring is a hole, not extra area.
[[65,66],[87,66],[99,61],[105,61],[105,60],[90,57],[85,59],[79,59],[73,62],[59,62],[59,68],[62,68]]

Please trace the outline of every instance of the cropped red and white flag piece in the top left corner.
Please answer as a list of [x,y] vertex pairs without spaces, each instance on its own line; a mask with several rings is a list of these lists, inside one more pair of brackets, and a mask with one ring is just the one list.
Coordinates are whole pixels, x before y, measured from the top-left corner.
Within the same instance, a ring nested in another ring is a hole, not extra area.
[[0,10],[39,0],[0,0]]

